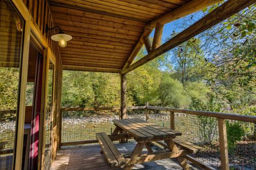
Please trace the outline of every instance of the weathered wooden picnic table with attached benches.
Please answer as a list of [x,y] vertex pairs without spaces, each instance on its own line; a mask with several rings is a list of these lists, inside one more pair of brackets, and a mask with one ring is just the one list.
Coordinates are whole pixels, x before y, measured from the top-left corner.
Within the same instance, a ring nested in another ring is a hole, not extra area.
[[[102,152],[111,166],[123,166],[123,169],[126,170],[132,169],[134,164],[137,163],[176,158],[183,169],[190,169],[184,156],[201,150],[200,147],[192,143],[176,138],[176,136],[181,135],[180,132],[146,122],[139,118],[113,120],[113,123],[116,128],[110,136],[105,133],[96,134]],[[119,136],[122,138],[123,135],[132,136],[137,141],[132,154],[126,155],[126,157],[117,150],[112,142],[115,137]],[[161,144],[166,150],[153,152],[151,148],[152,142]],[[141,153],[144,147],[148,151],[146,154]]]

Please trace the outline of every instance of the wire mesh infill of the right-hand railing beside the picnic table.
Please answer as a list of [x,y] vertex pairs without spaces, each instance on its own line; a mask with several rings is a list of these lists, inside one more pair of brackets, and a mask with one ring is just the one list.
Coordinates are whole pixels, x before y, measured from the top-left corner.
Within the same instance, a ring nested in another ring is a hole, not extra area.
[[[151,110],[149,122],[170,127],[170,111]],[[182,133],[179,138],[203,148],[193,154],[201,162],[221,169],[218,118],[203,115],[174,113],[175,130]],[[255,124],[239,120],[226,120],[228,158],[230,169],[256,169]],[[196,166],[196,165],[194,165]]]

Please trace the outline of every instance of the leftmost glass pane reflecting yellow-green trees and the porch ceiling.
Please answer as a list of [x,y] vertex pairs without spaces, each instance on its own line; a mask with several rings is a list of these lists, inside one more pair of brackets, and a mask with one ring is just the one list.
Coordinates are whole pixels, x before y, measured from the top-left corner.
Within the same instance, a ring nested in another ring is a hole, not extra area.
[[0,169],[14,162],[24,23],[10,1],[0,0]]

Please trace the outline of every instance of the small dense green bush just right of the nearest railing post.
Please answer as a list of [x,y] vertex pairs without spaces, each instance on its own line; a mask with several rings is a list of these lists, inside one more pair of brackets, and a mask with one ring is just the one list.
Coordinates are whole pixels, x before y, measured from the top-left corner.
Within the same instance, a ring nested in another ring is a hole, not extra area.
[[239,122],[226,122],[226,129],[228,149],[229,151],[232,151],[232,149],[236,147],[236,143],[242,140],[242,137],[245,135],[245,132]]

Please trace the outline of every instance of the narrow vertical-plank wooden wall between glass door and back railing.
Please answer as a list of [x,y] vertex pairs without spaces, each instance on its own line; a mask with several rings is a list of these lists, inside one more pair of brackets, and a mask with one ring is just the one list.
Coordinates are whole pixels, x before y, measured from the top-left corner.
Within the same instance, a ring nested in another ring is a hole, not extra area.
[[[53,141],[52,141],[52,153],[53,159],[56,156],[57,149],[59,148],[59,126],[61,124],[61,83],[62,83],[62,62],[59,53],[58,42],[51,40],[51,36],[55,34],[54,30],[50,30],[46,33],[46,25],[49,28],[54,27],[52,14],[49,8],[48,1],[45,0],[23,0],[23,3],[27,7],[30,15],[32,16],[31,22],[33,22],[36,30],[44,36],[47,41],[47,47],[50,48],[56,59],[56,75],[55,75],[55,93],[54,93],[54,111],[53,111]],[[42,147],[44,150],[44,146]]]

